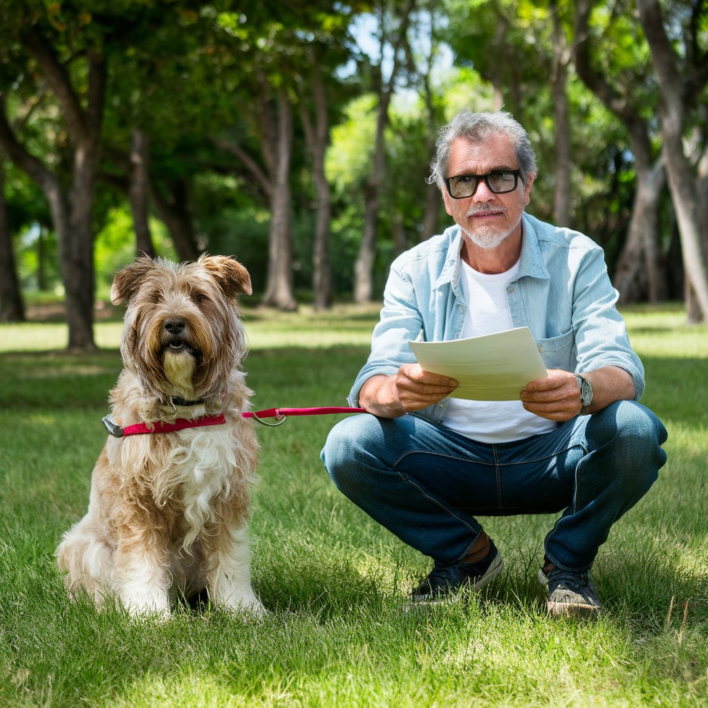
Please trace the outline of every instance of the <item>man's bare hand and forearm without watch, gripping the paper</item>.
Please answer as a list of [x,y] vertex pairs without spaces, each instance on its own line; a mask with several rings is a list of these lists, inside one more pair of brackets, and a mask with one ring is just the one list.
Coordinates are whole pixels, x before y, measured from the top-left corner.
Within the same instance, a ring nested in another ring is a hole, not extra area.
[[380,418],[398,418],[442,401],[456,388],[455,379],[404,364],[392,376],[372,376],[362,386],[359,405]]

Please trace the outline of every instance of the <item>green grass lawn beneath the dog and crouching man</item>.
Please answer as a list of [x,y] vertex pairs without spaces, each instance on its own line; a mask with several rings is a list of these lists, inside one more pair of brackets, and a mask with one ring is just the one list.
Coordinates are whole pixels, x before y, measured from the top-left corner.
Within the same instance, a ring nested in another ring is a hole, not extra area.
[[[183,609],[131,622],[69,603],[52,553],[86,508],[120,323],[101,321],[103,350],[83,356],[62,351],[61,322],[1,326],[0,706],[708,705],[708,328],[675,307],[626,316],[668,463],[600,549],[597,622],[544,614],[534,576],[552,516],[484,520],[505,555],[499,580],[467,604],[406,612],[428,562],[329,481],[319,451],[338,416],[258,428],[262,622]],[[374,311],[245,319],[254,406],[344,404]]]

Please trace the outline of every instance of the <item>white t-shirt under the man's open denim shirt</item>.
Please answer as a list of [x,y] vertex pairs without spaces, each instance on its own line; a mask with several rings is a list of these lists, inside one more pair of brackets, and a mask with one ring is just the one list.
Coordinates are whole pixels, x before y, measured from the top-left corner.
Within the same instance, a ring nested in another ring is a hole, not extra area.
[[[506,273],[478,273],[462,261],[460,284],[467,301],[467,319],[460,338],[493,334],[513,327],[506,286],[519,272],[518,261]],[[511,442],[549,433],[557,423],[524,409],[521,401],[450,399],[442,425],[479,442]]]

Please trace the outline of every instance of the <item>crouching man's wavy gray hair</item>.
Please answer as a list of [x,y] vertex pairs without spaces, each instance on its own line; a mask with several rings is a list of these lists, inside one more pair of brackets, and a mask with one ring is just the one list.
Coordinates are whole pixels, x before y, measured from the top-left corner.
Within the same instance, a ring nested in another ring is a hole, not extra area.
[[531,147],[528,133],[510,113],[498,110],[496,113],[472,113],[461,110],[450,123],[438,130],[435,142],[435,159],[430,163],[428,184],[436,183],[440,190],[445,189],[447,164],[450,162],[450,149],[458,137],[473,143],[484,142],[493,135],[506,135],[513,144],[519,163],[521,181],[526,183],[529,177],[537,175],[536,154]]

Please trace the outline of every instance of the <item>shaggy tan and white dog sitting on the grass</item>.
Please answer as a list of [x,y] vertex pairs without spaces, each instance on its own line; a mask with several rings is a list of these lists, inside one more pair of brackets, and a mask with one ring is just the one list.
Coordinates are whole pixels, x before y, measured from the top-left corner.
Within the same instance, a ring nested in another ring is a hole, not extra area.
[[72,598],[167,615],[206,590],[215,607],[263,614],[246,535],[258,442],[241,416],[253,394],[241,369],[242,293],[249,273],[226,256],[142,256],[115,275],[111,302],[127,309],[104,419],[112,435],[89,509],[56,552]]

